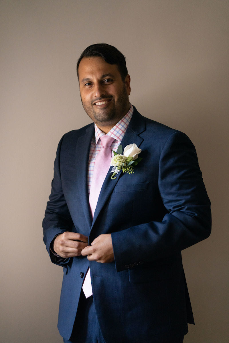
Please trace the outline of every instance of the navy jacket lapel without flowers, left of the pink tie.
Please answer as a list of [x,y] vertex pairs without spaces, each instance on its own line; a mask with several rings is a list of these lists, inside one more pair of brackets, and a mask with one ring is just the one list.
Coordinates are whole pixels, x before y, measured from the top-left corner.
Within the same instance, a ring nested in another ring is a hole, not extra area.
[[76,145],[76,179],[78,185],[78,196],[82,203],[83,213],[91,229],[92,216],[88,196],[88,158],[91,146],[91,139],[94,134],[94,125],[87,128],[85,133],[79,137]]

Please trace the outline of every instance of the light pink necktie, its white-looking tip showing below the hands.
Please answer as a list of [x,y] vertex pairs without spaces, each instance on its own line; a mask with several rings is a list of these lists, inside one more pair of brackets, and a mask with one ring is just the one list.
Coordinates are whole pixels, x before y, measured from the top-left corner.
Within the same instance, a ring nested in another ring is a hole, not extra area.
[[[111,136],[104,135],[100,137],[100,140],[103,147],[98,152],[95,158],[95,164],[94,164],[94,170],[93,170],[91,188],[90,188],[90,194],[89,194],[89,203],[90,203],[92,217],[94,216],[95,208],[99,199],[103,181],[111,166],[111,157],[112,157],[111,144],[114,142],[115,139]],[[85,276],[82,289],[86,298],[92,295],[90,268],[88,269],[87,274]]]

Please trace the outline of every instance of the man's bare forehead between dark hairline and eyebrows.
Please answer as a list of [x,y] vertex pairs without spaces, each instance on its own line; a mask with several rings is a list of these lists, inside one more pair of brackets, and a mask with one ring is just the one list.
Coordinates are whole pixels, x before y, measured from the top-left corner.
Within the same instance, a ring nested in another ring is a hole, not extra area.
[[121,77],[117,64],[110,64],[104,61],[100,56],[83,57],[80,61],[79,68],[79,81],[85,78],[98,77],[103,75],[112,74],[116,77]]

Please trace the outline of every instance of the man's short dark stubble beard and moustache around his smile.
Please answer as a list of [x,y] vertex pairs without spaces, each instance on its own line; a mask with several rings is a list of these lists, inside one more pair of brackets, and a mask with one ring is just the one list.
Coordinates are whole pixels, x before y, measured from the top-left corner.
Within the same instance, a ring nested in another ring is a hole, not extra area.
[[[95,101],[109,99],[111,104],[108,108],[98,108],[94,105]],[[91,103],[83,102],[83,108],[87,115],[95,122],[95,124],[106,125],[114,123],[114,125],[121,120],[129,110],[129,98],[126,91],[126,86],[123,84],[122,90],[117,94],[115,99],[112,95],[104,95],[101,98],[94,99]]]

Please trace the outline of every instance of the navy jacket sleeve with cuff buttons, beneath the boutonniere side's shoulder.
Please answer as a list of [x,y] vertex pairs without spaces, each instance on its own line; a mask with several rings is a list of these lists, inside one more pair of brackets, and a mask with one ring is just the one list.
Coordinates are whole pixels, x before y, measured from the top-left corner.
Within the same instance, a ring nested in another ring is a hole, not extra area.
[[210,235],[210,201],[195,147],[182,132],[172,133],[161,150],[158,187],[167,210],[163,220],[142,218],[142,224],[112,233],[117,272],[168,257]]

